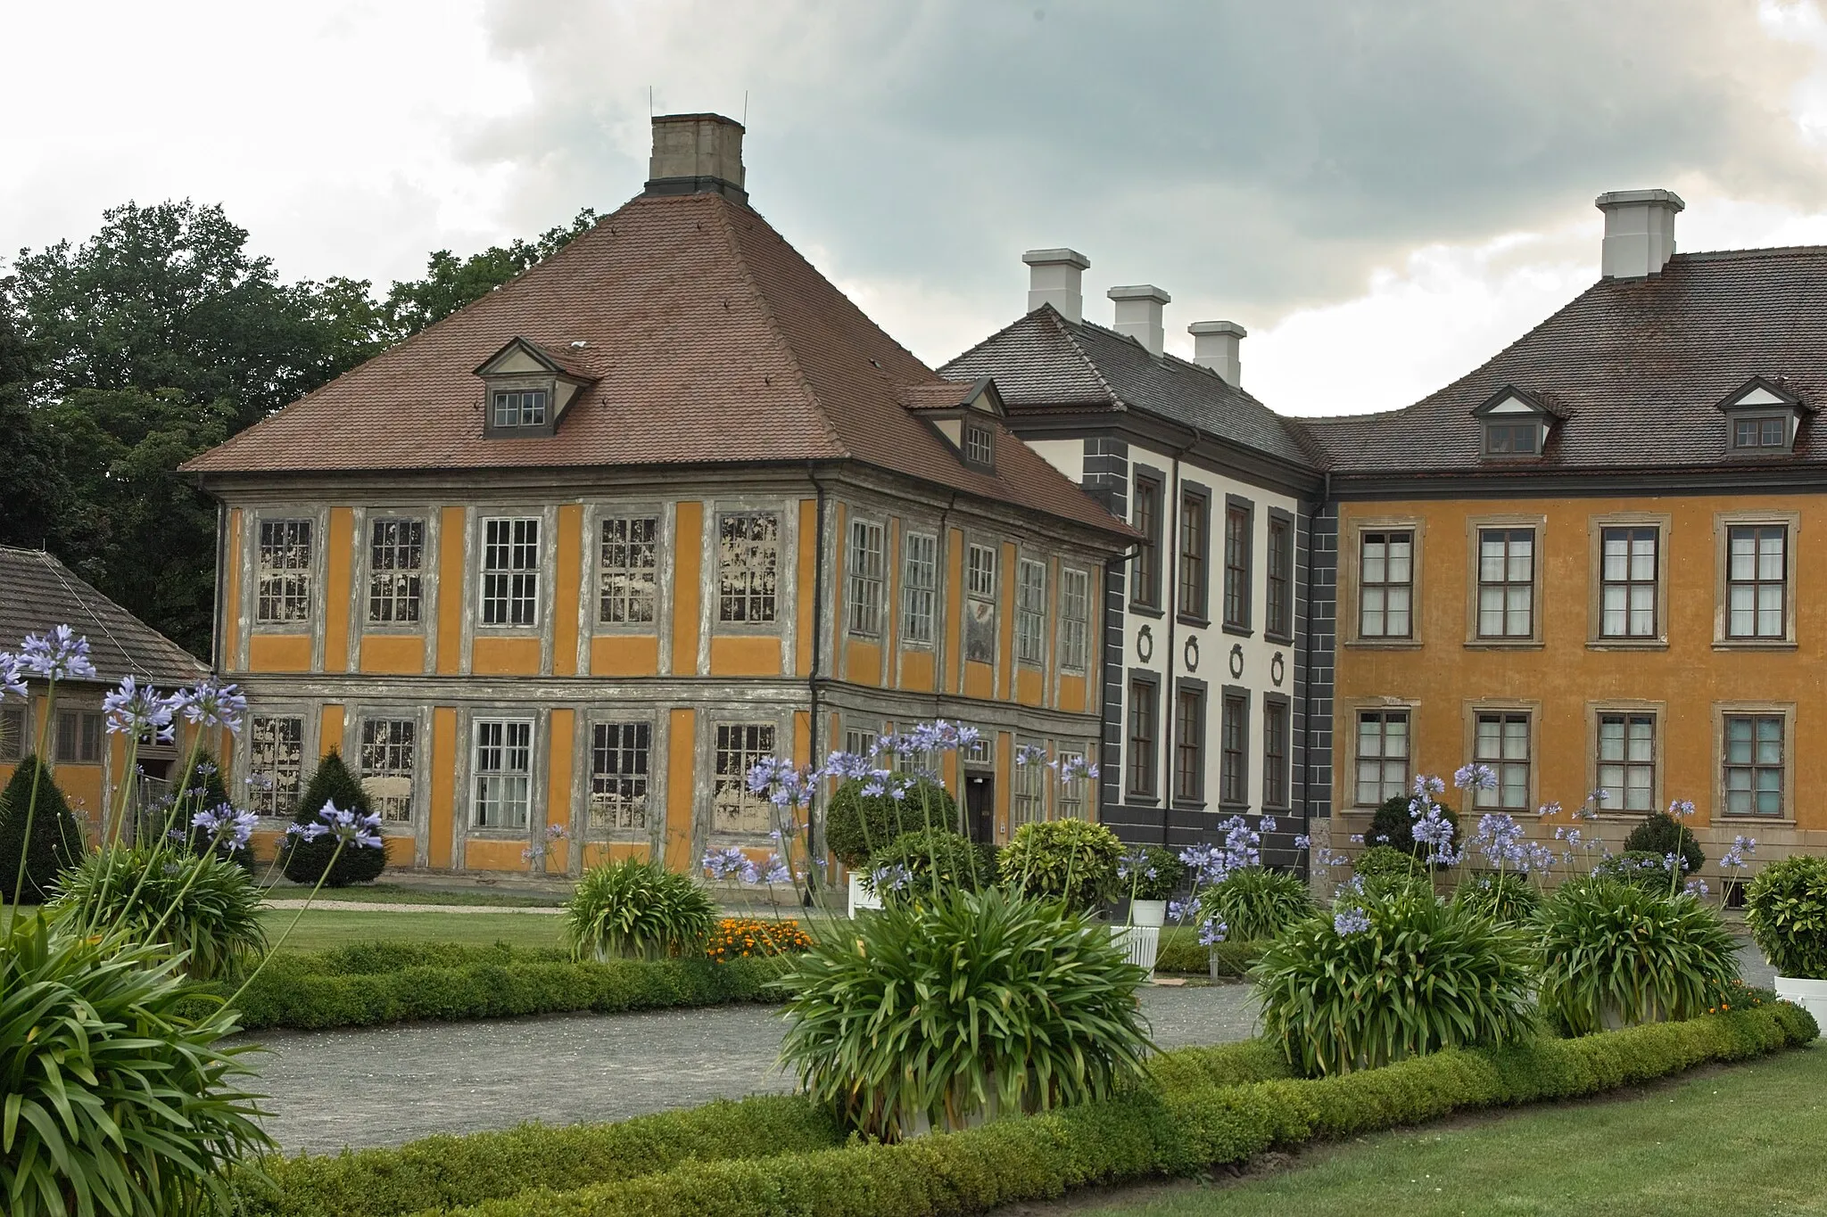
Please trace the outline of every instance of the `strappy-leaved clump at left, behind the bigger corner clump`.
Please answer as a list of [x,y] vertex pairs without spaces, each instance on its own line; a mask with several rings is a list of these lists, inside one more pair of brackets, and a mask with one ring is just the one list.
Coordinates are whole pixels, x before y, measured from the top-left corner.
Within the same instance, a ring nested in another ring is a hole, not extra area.
[[122,929],[135,941],[185,954],[183,971],[216,980],[267,952],[261,892],[238,863],[175,847],[124,847],[88,854],[58,879],[51,907],[86,925]]

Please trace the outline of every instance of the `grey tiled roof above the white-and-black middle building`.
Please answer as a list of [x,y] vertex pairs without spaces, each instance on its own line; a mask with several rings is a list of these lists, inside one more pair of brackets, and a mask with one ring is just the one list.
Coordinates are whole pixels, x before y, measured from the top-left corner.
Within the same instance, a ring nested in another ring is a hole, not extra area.
[[1310,467],[1297,423],[1281,418],[1217,372],[1043,305],[939,369],[994,376],[1012,414],[1023,409],[1135,409]]

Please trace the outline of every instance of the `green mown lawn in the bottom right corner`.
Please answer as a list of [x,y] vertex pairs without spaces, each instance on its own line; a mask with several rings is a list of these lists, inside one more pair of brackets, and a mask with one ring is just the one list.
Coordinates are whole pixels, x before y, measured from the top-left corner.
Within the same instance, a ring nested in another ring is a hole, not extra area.
[[1827,1213],[1827,1045],[1668,1086],[1303,1153],[1235,1184],[1078,1208],[1135,1217]]

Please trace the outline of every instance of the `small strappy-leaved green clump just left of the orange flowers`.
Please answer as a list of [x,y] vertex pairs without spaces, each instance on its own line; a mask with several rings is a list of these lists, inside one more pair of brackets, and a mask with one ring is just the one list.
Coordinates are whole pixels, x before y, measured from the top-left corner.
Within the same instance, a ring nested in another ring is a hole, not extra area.
[[703,887],[645,858],[585,872],[565,905],[565,941],[576,958],[696,954],[714,927],[716,905]]

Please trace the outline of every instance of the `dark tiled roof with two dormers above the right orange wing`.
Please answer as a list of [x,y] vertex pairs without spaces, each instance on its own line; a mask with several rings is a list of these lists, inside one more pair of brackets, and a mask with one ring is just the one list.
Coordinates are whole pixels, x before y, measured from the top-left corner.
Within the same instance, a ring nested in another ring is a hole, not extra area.
[[[1805,407],[1792,454],[1728,452],[1717,405],[1750,378]],[[1504,387],[1551,403],[1540,460],[1485,460],[1471,411]],[[1827,246],[1677,254],[1648,279],[1600,279],[1484,367],[1385,414],[1308,418],[1343,474],[1772,469],[1827,465]]]

